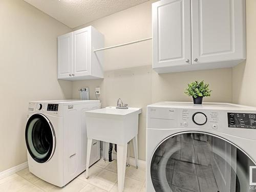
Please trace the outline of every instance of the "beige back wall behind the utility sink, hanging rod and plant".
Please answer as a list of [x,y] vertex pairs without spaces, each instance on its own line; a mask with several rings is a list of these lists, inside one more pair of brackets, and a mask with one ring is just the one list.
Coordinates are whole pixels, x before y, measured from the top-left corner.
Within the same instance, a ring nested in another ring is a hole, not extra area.
[[[149,1],[113,15],[95,20],[76,29],[94,26],[105,36],[105,46],[112,46],[152,36],[151,4]],[[74,30],[76,30],[74,29]],[[146,105],[158,101],[190,101],[184,94],[187,83],[205,80],[213,90],[205,101],[232,101],[232,69],[204,70],[184,73],[157,74],[152,70],[152,41],[141,42],[104,51],[104,79],[73,82],[73,98],[78,88],[101,88],[102,106],[116,105],[120,97],[129,106],[141,107],[139,122],[139,159],[145,160]]]

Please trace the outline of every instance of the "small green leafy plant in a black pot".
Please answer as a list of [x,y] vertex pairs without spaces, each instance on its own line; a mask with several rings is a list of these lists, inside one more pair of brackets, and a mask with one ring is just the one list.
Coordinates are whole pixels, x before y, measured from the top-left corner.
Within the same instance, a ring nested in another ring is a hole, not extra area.
[[193,97],[194,104],[202,104],[203,97],[210,96],[212,90],[209,90],[209,84],[204,81],[194,81],[188,84],[185,94]]

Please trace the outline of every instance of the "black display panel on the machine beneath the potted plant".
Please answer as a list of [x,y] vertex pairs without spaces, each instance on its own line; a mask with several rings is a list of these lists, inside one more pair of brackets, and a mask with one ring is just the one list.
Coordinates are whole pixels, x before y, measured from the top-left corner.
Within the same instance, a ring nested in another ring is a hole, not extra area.
[[256,114],[227,113],[228,127],[256,129]]

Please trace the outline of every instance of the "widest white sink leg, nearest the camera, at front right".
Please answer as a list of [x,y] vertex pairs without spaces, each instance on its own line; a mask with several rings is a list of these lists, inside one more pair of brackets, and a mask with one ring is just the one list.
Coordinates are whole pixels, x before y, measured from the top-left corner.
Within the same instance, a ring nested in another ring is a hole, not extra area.
[[118,192],[123,192],[126,156],[127,156],[127,144],[117,145],[117,180],[118,180]]

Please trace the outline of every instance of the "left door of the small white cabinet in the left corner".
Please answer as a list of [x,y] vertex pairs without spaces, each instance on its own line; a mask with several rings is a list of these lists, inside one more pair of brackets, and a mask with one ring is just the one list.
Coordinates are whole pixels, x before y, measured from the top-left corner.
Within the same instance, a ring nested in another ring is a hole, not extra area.
[[72,33],[58,37],[58,78],[70,78],[72,74]]

